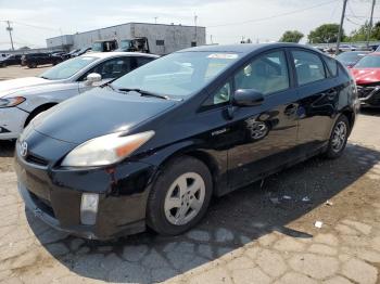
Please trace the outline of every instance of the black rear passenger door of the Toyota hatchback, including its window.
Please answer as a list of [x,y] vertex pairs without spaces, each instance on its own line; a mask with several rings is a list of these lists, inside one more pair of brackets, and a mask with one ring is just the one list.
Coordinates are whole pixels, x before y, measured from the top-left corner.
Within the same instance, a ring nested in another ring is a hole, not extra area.
[[337,80],[319,53],[293,49],[291,61],[300,95],[299,143],[304,152],[319,149],[329,138],[338,101]]

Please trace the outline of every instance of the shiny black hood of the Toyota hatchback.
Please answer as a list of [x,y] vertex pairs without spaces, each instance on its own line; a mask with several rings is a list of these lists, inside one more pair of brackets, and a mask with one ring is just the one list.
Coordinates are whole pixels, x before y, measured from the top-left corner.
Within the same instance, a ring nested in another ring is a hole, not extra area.
[[175,101],[97,88],[42,113],[33,127],[50,138],[80,144],[113,132],[129,132],[174,105]]

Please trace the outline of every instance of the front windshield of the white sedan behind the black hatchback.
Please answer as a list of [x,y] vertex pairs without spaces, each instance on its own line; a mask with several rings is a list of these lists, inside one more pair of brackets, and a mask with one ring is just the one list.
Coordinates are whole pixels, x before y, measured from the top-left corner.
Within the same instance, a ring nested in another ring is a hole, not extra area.
[[59,65],[55,65],[51,69],[42,73],[39,77],[49,80],[62,80],[72,77],[74,74],[78,73],[91,62],[98,60],[92,56],[79,56],[72,60],[67,60]]

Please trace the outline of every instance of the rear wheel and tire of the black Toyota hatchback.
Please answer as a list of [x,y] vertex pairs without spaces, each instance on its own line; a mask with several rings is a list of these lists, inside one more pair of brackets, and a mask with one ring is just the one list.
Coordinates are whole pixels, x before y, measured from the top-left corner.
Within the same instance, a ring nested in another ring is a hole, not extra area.
[[332,128],[329,145],[325,153],[327,158],[339,158],[343,154],[351,131],[350,128],[347,117],[341,115]]

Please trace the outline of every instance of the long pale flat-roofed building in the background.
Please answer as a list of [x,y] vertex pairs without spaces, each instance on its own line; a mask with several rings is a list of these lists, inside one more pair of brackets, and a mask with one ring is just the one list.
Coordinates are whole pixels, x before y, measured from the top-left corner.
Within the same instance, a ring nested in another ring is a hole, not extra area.
[[167,54],[206,43],[206,28],[199,26],[127,23],[74,35],[47,39],[49,49],[74,50],[91,47],[94,41],[148,38],[151,53]]

